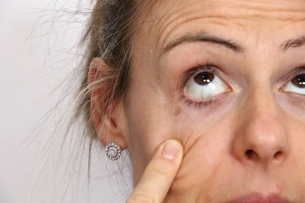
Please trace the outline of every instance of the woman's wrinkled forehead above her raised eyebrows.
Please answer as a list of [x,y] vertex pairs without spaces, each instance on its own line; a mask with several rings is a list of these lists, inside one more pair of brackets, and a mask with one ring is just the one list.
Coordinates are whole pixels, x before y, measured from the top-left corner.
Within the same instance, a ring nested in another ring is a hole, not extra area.
[[146,16],[140,33],[146,45],[159,50],[186,32],[198,31],[240,40],[280,36],[283,41],[304,35],[304,20],[303,0],[162,0]]

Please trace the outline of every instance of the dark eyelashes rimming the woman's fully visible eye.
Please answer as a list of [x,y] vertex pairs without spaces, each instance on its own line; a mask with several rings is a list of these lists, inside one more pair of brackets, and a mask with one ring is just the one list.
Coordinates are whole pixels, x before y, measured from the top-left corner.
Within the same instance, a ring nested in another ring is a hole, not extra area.
[[210,72],[214,75],[217,75],[217,76],[220,75],[220,70],[217,69],[217,67],[212,66],[209,63],[207,63],[206,65],[200,65],[199,64],[197,67],[195,67],[194,69],[189,70],[185,74],[185,76],[183,77],[183,79],[181,81],[181,85],[180,85],[180,88],[179,88],[182,91],[181,97],[182,97],[183,100],[185,100],[186,104],[188,106],[194,106],[195,108],[198,108],[199,110],[204,108],[204,107],[215,104],[220,99],[220,97],[218,96],[218,97],[211,97],[211,98],[208,98],[208,99],[203,100],[203,101],[194,101],[194,100],[188,99],[187,96],[184,95],[185,88],[187,86],[187,83],[190,81],[190,79],[192,77],[194,77],[195,75],[197,75],[201,72],[206,72],[206,71]]

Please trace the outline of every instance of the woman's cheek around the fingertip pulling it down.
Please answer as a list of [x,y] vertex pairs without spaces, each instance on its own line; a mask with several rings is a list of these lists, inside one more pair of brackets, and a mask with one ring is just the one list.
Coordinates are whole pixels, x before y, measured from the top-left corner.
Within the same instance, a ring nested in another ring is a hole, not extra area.
[[191,112],[190,107],[164,103],[160,94],[144,94],[135,96],[134,93],[133,98],[137,99],[131,99],[128,107],[129,152],[135,185],[158,146],[168,139],[179,140],[185,148],[185,157],[173,184],[174,191],[192,191],[191,188],[200,183],[217,184],[214,179],[218,179],[218,170],[223,168],[222,158],[227,153],[230,136],[225,128],[216,129],[225,124],[202,116],[198,119],[200,111]]

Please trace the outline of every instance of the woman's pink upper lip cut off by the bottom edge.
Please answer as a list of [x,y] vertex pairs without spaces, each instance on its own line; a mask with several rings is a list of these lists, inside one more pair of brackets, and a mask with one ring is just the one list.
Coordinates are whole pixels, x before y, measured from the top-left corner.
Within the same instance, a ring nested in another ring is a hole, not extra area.
[[226,203],[292,203],[292,202],[277,194],[270,194],[268,196],[265,196],[260,193],[253,193],[246,196],[241,196],[237,199],[228,201]]

